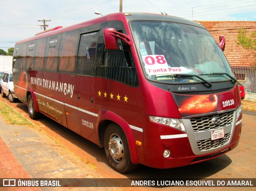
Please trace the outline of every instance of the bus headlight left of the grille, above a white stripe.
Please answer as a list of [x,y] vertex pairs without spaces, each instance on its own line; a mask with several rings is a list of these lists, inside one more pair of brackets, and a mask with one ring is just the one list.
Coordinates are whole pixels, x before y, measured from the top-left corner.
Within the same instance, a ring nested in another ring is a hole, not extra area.
[[149,120],[152,122],[155,122],[155,123],[160,123],[160,124],[163,124],[166,126],[176,128],[176,129],[186,133],[184,124],[181,119],[149,116]]

